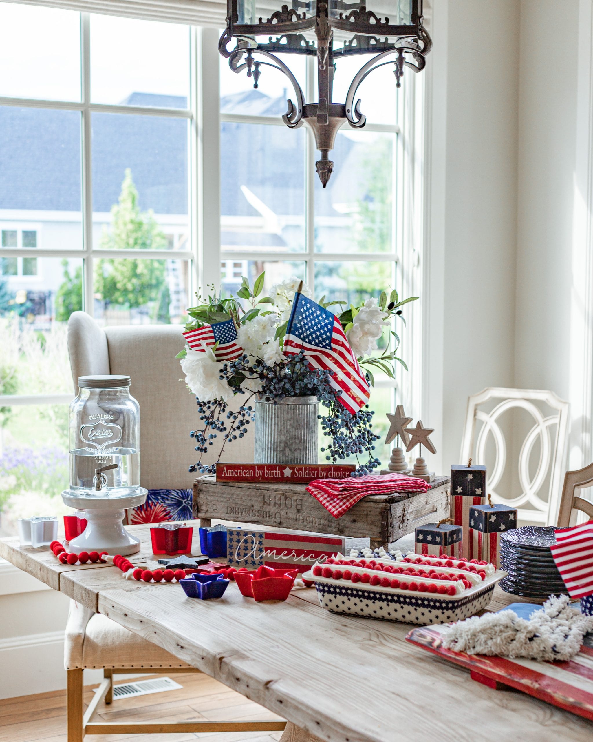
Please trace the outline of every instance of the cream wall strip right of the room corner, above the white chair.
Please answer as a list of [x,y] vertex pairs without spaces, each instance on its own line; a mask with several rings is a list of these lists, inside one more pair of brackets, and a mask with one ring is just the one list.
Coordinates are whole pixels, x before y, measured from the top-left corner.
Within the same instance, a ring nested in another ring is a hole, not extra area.
[[[561,13],[561,18],[559,17]],[[569,399],[578,0],[522,0],[514,384]],[[555,59],[554,59],[555,58]]]

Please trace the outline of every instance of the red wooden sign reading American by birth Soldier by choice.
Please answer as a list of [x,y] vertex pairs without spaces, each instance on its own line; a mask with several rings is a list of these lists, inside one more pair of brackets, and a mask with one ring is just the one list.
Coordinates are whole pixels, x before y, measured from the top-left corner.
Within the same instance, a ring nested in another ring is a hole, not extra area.
[[294,482],[345,479],[354,464],[216,464],[216,482]]

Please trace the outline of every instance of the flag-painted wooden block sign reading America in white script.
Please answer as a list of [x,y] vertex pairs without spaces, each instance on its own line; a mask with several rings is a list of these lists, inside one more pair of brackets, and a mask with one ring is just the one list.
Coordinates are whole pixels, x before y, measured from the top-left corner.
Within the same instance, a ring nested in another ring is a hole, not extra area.
[[230,567],[256,569],[294,567],[299,573],[311,569],[319,557],[348,556],[351,549],[368,548],[370,539],[351,539],[282,528],[227,527],[227,562]]

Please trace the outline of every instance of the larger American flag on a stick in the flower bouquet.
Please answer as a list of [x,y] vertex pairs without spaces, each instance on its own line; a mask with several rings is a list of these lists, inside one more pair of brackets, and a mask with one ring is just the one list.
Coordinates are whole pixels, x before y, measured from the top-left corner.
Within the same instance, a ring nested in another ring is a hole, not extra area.
[[284,338],[284,352],[303,352],[316,369],[331,370],[330,384],[352,415],[367,404],[371,390],[339,324],[339,319],[306,296],[296,293]]

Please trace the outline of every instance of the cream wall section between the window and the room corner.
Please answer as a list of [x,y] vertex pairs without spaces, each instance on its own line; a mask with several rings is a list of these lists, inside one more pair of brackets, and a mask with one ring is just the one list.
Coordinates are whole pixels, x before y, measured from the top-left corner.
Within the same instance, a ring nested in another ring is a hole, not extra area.
[[434,3],[435,52],[447,53],[444,79],[432,76],[432,154],[443,159],[428,183],[437,221],[425,291],[443,295],[427,327],[442,352],[425,383],[442,399],[428,397],[423,421],[442,426],[442,471],[458,462],[468,395],[513,383],[519,20],[514,0]]

